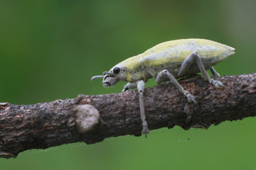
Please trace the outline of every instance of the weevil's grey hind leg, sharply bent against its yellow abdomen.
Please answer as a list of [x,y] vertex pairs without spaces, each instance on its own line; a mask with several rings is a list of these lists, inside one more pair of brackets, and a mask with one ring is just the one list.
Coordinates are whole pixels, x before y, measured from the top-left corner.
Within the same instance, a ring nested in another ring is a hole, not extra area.
[[220,81],[216,81],[214,79],[210,79],[209,74],[206,72],[206,69],[203,67],[203,62],[201,61],[200,57],[196,52],[192,52],[181,64],[181,69],[178,72],[178,76],[181,76],[184,72],[186,72],[189,67],[191,67],[191,64],[196,62],[198,68],[200,69],[200,72],[203,75],[203,79],[206,81],[209,81],[210,84],[213,84],[216,88],[219,88],[220,86],[225,87]]

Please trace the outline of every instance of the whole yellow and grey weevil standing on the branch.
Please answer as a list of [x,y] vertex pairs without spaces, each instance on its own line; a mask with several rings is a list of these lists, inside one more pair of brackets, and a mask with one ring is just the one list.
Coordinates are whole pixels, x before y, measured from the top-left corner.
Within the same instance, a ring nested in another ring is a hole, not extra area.
[[216,88],[225,87],[220,81],[211,79],[206,72],[210,69],[213,77],[220,77],[213,66],[235,54],[235,48],[205,39],[181,39],[162,42],[140,55],[130,57],[115,65],[109,72],[91,80],[102,78],[103,86],[114,86],[118,81],[128,81],[122,91],[136,89],[139,92],[139,107],[142,118],[142,134],[149,133],[144,111],[144,87],[148,79],[157,84],[170,81],[176,86],[188,103],[196,103],[196,98],[183,89],[176,79],[201,72],[203,79]]

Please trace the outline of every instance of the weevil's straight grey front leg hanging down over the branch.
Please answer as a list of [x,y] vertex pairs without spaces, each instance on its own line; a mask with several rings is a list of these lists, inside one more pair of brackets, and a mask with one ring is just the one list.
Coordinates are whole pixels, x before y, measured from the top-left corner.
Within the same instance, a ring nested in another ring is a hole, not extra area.
[[146,135],[149,134],[149,128],[147,127],[146,123],[146,115],[145,115],[145,110],[144,110],[144,89],[145,89],[145,82],[143,80],[139,81],[137,84],[137,89],[139,92],[139,108],[140,108],[140,113],[141,113],[141,118],[142,118],[142,134]]

